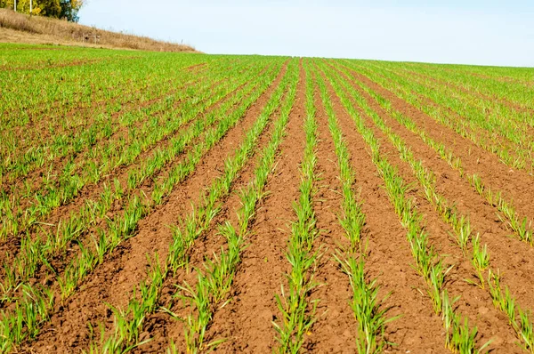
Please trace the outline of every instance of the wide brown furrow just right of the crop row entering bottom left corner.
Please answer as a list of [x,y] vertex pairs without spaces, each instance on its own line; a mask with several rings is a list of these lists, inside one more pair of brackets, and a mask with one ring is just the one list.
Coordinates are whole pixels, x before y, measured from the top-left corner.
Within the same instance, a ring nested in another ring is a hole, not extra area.
[[[224,158],[239,145],[284,73],[285,69],[253,107],[247,110],[241,123],[231,128],[223,140],[202,158],[195,172],[175,188],[166,204],[139,222],[137,234],[119,245],[114,253],[108,254],[104,263],[93,271],[77,294],[64,306],[56,306],[51,321],[38,335],[36,342],[30,343],[28,350],[38,348],[39,352],[65,352],[76,347],[75,352],[79,352],[91,340],[87,323],[96,325],[103,321],[107,326],[112,325],[112,311],[106,303],[118,307],[127,304],[134,286],[146,278],[147,254],[157,252],[160,261],[166,259],[168,245],[172,241],[167,225],[174,224],[180,216],[188,213],[190,202],[197,200],[207,182],[221,173]],[[171,290],[174,290],[174,286]]]

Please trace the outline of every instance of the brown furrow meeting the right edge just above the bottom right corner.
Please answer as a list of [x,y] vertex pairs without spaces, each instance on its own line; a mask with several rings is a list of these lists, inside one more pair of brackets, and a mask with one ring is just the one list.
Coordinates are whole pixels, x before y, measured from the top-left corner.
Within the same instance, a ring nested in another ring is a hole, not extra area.
[[[436,175],[437,191],[451,204],[456,205],[458,212],[469,216],[473,231],[480,233],[482,244],[488,245],[491,267],[503,274],[501,283],[510,287],[522,308],[534,309],[534,294],[530,291],[530,285],[534,282],[534,248],[517,237],[509,237],[512,231],[506,229],[506,225],[499,220],[497,209],[489,205],[468,181],[461,178],[459,173],[442,160],[418,135],[409,132],[396,119],[388,117],[368,93],[363,92],[358,85],[353,87],[366,98],[372,109],[383,117],[394,132],[408,142],[415,156],[424,161],[425,167],[433,171]],[[467,259],[469,256],[470,254]]]

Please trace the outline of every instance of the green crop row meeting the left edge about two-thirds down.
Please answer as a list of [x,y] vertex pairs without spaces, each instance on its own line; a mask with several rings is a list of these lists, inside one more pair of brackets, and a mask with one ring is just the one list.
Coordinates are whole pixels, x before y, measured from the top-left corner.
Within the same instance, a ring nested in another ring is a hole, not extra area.
[[[257,73],[258,71],[254,72],[255,75]],[[214,77],[218,79],[220,76]],[[152,118],[142,114],[141,117],[146,123],[135,129],[135,133],[129,133],[127,139],[108,141],[107,146],[101,149],[89,149],[87,154],[90,155],[85,156],[85,160],[80,160],[80,163],[68,163],[59,180],[47,178],[40,189],[25,190],[20,195],[4,195],[0,203],[5,215],[4,224],[11,225],[11,229],[5,228],[4,232],[11,231],[17,235],[35,222],[42,221],[54,208],[68,204],[85,185],[98,183],[104,176],[109,180],[110,173],[118,167],[128,167],[140,156],[158,146],[159,141],[169,140],[175,132],[190,124],[199,113],[245,84],[247,77],[226,81],[216,89],[211,87],[211,80],[207,81],[197,88],[188,88],[186,91],[189,93],[179,94],[177,97],[183,102],[177,109],[169,108],[162,115]],[[172,142],[172,139],[170,141]]]

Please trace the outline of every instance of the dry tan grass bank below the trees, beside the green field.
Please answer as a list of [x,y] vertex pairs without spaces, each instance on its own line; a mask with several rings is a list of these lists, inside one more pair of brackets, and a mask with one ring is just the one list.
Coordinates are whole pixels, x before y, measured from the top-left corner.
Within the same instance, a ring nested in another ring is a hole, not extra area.
[[193,47],[79,25],[65,20],[29,16],[0,9],[0,42],[76,44],[157,52],[197,52]]

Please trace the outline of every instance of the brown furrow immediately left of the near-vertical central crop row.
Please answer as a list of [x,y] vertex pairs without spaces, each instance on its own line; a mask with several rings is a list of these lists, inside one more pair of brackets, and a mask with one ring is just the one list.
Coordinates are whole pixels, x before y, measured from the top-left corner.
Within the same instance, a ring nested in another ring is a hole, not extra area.
[[215,311],[208,336],[225,338],[221,352],[268,352],[275,344],[271,321],[278,308],[274,295],[279,293],[283,274],[288,270],[285,253],[292,203],[298,197],[304,134],[304,87],[301,74],[296,101],[287,123],[287,137],[281,143],[276,170],[267,182],[267,197],[258,206],[247,249],[231,289],[231,301]]

